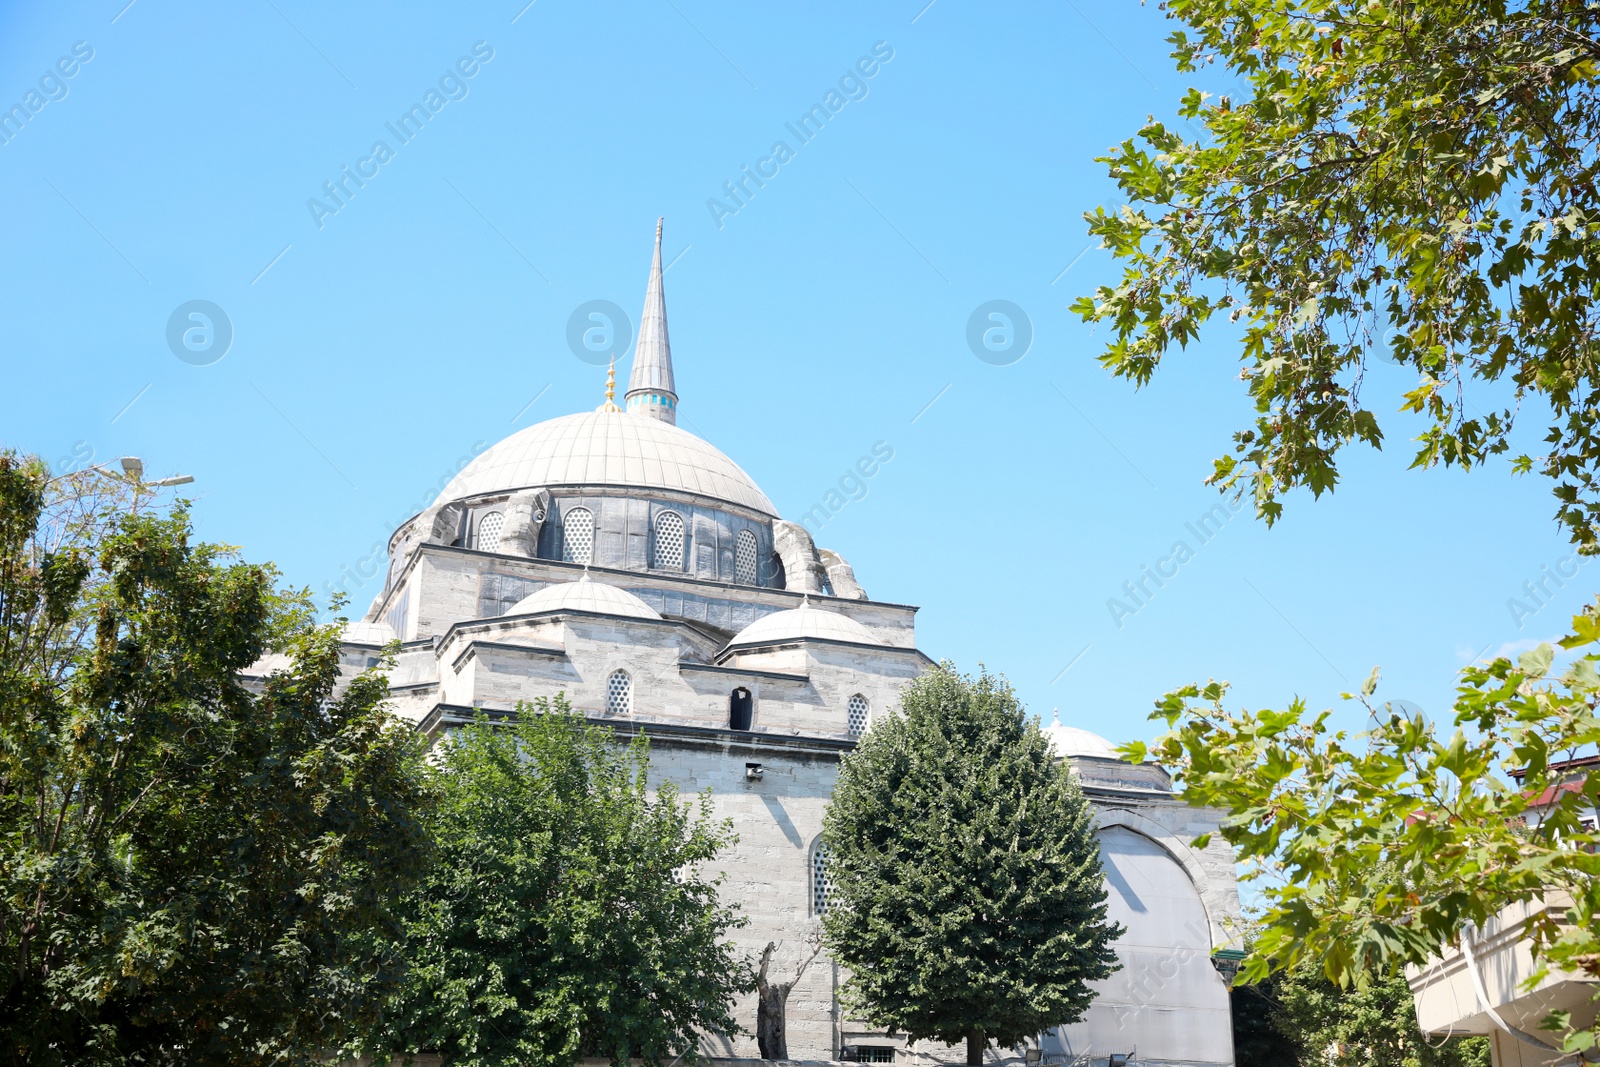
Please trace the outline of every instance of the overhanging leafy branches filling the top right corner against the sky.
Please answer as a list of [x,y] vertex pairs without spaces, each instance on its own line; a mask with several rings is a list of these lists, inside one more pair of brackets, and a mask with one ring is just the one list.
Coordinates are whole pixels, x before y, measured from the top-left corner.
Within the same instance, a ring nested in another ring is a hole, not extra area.
[[[1240,94],[1190,90],[1101,162],[1130,205],[1088,216],[1125,261],[1074,309],[1109,322],[1101,362],[1142,386],[1218,315],[1240,323],[1254,426],[1213,482],[1280,496],[1338,480],[1382,443],[1374,358],[1419,381],[1413,466],[1514,448],[1523,403],[1546,442],[1515,469],[1554,480],[1573,541],[1600,549],[1600,8],[1587,0],[1168,0],[1181,72],[1221,64]],[[1221,77],[1224,75],[1226,77]],[[1517,448],[1522,448],[1520,445]]]

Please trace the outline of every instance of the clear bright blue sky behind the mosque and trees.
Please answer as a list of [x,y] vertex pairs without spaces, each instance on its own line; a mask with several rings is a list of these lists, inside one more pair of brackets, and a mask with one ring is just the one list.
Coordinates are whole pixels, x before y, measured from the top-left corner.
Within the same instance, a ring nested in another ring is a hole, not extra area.
[[[1514,619],[1566,555],[1547,486],[1406,472],[1395,418],[1278,528],[1186,530],[1248,416],[1237,352],[1208,338],[1134,394],[1066,310],[1115,277],[1082,222],[1115,202],[1093,157],[1187,85],[1155,5],[125,2],[0,6],[0,107],[40,93],[0,144],[0,443],[192,474],[200,533],[293,582],[358,569],[482,442],[595,406],[568,317],[637,317],[664,214],[682,422],[787,517],[886,442],[819,542],[1046,718],[1126,739],[1182,681],[1325,704],[1374,664],[1438,713],[1462,662],[1558,633],[1592,585]],[[786,123],[878,42],[800,144]],[[386,123],[442,80],[402,144]],[[715,218],[776,141],[792,158]],[[346,166],[371,176],[309,208]],[[166,342],[192,299],[232,323],[210,365]],[[966,342],[992,299],[1034,330],[1005,366]],[[1376,368],[1371,406],[1408,381]],[[1114,621],[1179,539],[1194,557]]]

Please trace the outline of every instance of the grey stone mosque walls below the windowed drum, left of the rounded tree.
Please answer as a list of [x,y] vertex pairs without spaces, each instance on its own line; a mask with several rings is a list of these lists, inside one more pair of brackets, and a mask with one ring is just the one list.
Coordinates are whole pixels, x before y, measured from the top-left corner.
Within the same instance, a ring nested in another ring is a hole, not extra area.
[[[595,506],[606,498],[570,499]],[[680,499],[674,504],[683,507]],[[549,530],[547,523],[541,545],[550,544]],[[765,533],[770,545],[770,528]],[[390,680],[394,705],[434,734],[480,712],[507,713],[522,701],[562,693],[619,741],[648,736],[654,781],[685,793],[712,790],[717,817],[731,819],[739,835],[720,870],[725,893],[750,920],[738,944],[755,958],[766,942],[779,942],[774,966],[792,973],[818,929],[816,845],[838,758],[854,747],[851,699],[864,701],[869,720],[891,712],[899,689],[930,665],[915,648],[915,609],[662,574],[626,553],[613,561],[632,563],[627,569],[434,542],[418,542],[411,552],[392,568],[390,587],[365,629],[352,627],[347,665],[370,665],[394,629],[402,641]],[[624,590],[659,617],[518,608],[536,593],[582,582]],[[778,617],[782,625],[789,614],[834,616],[859,633],[840,638],[798,627],[776,640],[739,641],[752,624]],[[630,685],[626,712],[610,701],[616,672],[626,672]],[[742,729],[730,721],[736,691],[750,701]],[[760,766],[758,777],[747,774],[749,765]],[[861,1032],[850,1027],[846,1035],[837,985],[837,968],[824,957],[792,990],[794,1057],[834,1059],[842,1041]],[[739,1017],[754,1032],[754,993],[746,1000]],[[707,1051],[757,1054],[747,1035],[709,1035]]]

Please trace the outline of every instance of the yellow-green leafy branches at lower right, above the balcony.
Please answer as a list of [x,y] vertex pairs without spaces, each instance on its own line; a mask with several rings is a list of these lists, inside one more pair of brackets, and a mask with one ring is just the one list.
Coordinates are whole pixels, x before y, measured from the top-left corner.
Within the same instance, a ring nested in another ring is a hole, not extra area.
[[[1221,833],[1267,902],[1242,979],[1315,961],[1330,981],[1365,989],[1534,901],[1570,901],[1565,915],[1536,912],[1534,957],[1600,977],[1600,774],[1570,782],[1550,766],[1600,742],[1597,641],[1600,608],[1589,608],[1562,640],[1581,654],[1560,673],[1549,645],[1466,667],[1448,736],[1378,704],[1376,669],[1346,694],[1368,717],[1354,734],[1301,701],[1229,712],[1216,681],[1166,694],[1152,718],[1168,733],[1125,752],[1155,757],[1187,801],[1227,813]],[[1568,1048],[1595,1046],[1595,1032],[1550,1022]]]

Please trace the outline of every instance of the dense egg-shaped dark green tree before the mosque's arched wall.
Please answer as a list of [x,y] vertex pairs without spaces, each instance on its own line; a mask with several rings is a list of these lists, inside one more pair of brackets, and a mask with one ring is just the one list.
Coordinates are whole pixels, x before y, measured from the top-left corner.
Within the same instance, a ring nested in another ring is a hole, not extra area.
[[1011,686],[941,664],[845,757],[822,822],[846,1009],[982,1062],[1115,969],[1094,813]]

